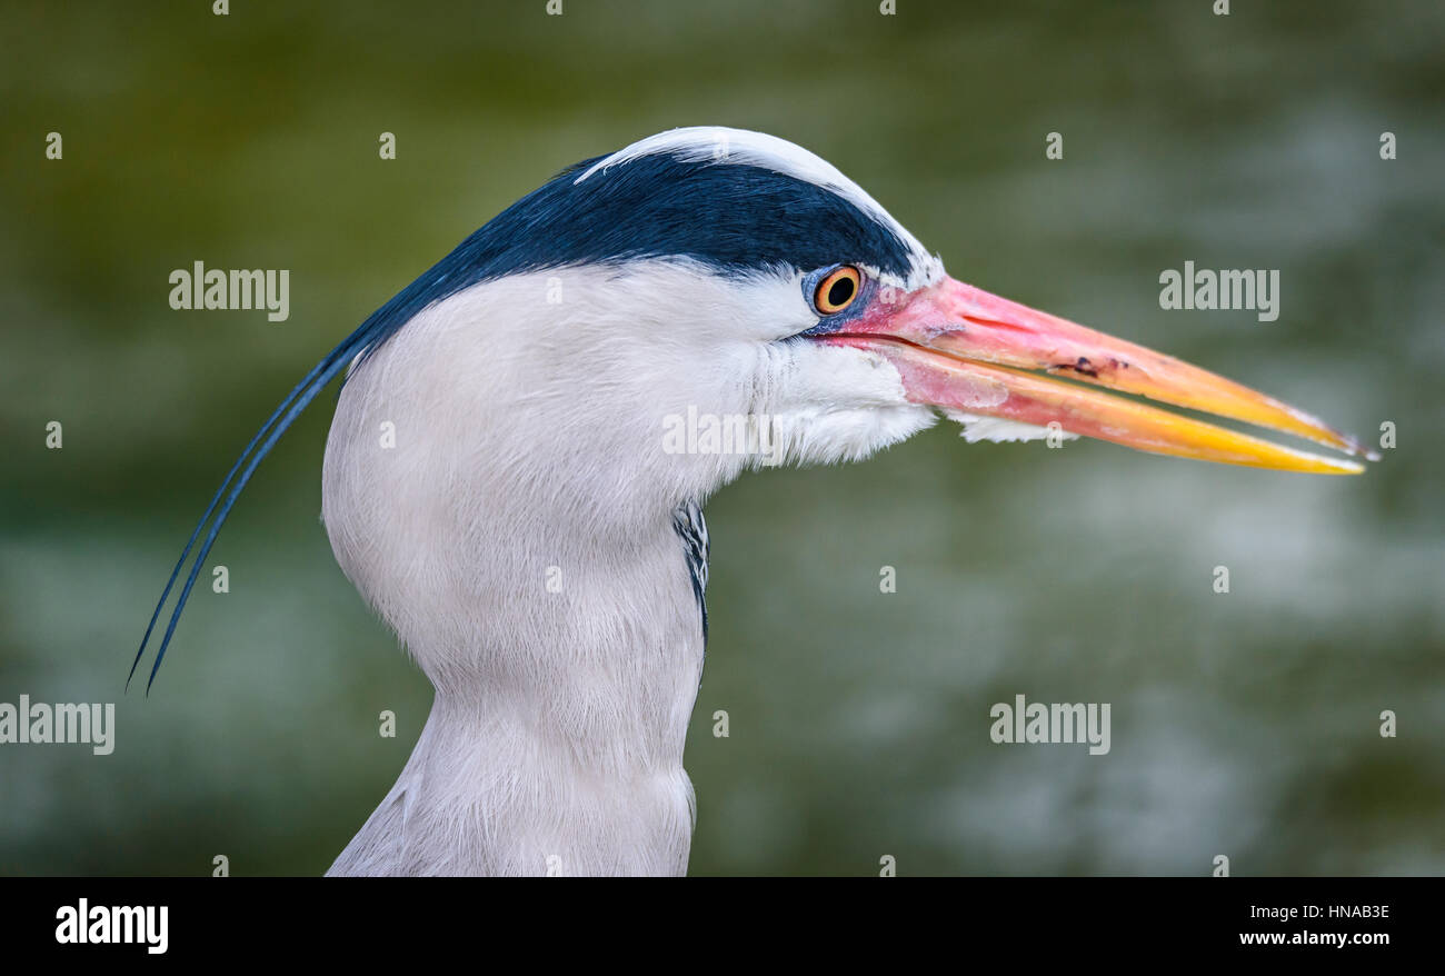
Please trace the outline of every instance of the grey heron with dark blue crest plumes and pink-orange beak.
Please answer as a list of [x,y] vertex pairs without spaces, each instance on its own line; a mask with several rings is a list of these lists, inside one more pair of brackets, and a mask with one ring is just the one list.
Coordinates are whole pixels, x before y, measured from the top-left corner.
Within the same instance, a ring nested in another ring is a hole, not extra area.
[[[676,129],[527,194],[306,373],[182,551],[136,655],[189,560],[150,681],[257,464],[342,373],[322,519],[435,701],[335,875],[685,872],[701,505],[744,470],[864,458],[941,414],[970,440],[1361,470],[1143,399],[1371,457],[1302,411],[949,278],[789,142]],[[744,418],[743,448],[669,442],[670,421],[704,415]]]

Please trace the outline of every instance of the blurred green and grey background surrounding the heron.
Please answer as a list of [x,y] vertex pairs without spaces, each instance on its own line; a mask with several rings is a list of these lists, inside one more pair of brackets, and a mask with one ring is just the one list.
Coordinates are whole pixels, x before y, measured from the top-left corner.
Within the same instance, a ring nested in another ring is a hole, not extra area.
[[[340,337],[558,169],[682,124],[808,146],[957,278],[1399,428],[1358,479],[951,424],[747,476],[707,510],[692,873],[1445,872],[1445,7],[1211,4],[6,3],[0,701],[118,727],[105,758],[0,746],[0,873],[331,863],[431,701],[318,521],[334,396],[221,535],[231,593],[202,577],[123,695],[165,575]],[[195,260],[290,269],[290,320],[172,311]],[[1185,260],[1280,269],[1279,321],[1160,311]],[[1111,753],[993,745],[1020,693],[1111,703]]]

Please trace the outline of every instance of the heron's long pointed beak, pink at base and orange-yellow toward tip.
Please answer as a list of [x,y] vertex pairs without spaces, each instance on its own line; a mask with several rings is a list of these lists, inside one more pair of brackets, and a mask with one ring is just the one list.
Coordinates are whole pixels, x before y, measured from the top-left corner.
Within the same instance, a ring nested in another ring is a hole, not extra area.
[[951,278],[887,299],[876,299],[841,331],[821,338],[887,359],[916,403],[1035,427],[1056,422],[1071,434],[1222,464],[1316,474],[1364,470],[1355,461],[1272,444],[1094,386],[1379,460],[1309,414],[1222,376]]

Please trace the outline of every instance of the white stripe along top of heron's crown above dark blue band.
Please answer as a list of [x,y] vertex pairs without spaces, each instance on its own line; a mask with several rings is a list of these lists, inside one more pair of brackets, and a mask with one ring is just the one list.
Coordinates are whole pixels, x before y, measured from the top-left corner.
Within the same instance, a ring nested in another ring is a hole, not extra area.
[[669,129],[647,136],[611,156],[592,163],[572,185],[588,176],[643,156],[672,156],[682,162],[715,162],[770,169],[838,194],[850,204],[889,227],[913,252],[913,273],[909,285],[926,283],[942,275],[942,265],[893,215],[883,210],[863,187],[844,176],[837,166],[786,139],[749,129],[721,126],[691,126]]

